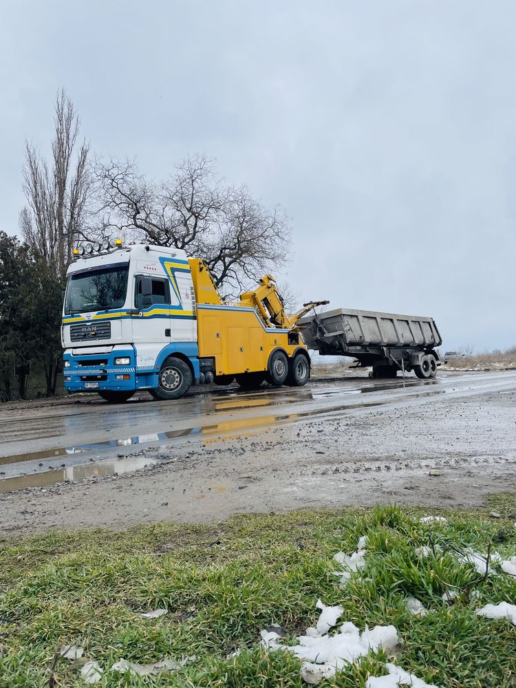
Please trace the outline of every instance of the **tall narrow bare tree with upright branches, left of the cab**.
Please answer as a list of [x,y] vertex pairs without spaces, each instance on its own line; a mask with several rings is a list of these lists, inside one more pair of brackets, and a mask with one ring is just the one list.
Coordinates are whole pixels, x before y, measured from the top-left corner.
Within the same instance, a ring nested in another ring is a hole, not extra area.
[[84,232],[87,202],[92,189],[88,168],[89,144],[76,147],[79,120],[64,89],[55,105],[55,136],[50,163],[25,142],[23,191],[28,207],[20,213],[20,228],[30,246],[63,278],[72,257],[72,246]]

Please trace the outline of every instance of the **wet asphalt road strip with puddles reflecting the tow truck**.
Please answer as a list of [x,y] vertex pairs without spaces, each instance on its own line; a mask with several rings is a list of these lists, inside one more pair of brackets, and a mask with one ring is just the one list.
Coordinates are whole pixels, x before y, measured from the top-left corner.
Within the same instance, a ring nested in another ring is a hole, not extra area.
[[[301,388],[252,392],[197,388],[173,402],[147,394],[123,405],[96,396],[0,407],[0,492],[140,469],[142,447],[202,442],[275,425],[414,407],[432,398],[516,390],[516,372],[441,373],[436,380],[312,379]],[[120,451],[124,453],[121,460]],[[94,466],[92,465],[94,464]]]

